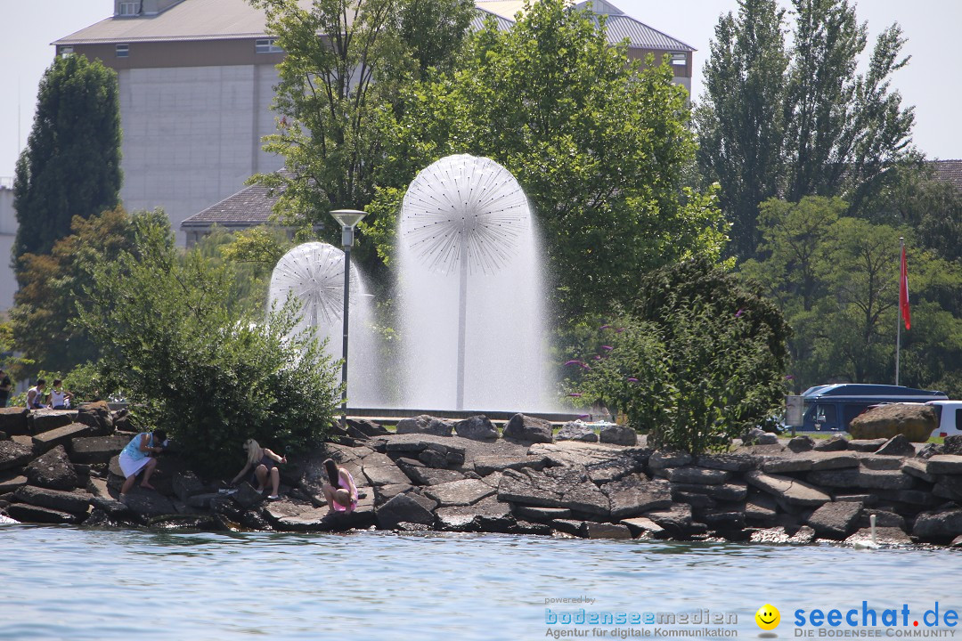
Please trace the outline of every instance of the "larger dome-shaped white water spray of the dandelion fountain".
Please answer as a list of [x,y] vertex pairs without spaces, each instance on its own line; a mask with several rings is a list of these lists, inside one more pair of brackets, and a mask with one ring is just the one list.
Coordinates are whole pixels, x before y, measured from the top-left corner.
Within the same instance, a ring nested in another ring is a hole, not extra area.
[[531,210],[486,158],[449,156],[398,222],[404,406],[546,410],[545,293]]

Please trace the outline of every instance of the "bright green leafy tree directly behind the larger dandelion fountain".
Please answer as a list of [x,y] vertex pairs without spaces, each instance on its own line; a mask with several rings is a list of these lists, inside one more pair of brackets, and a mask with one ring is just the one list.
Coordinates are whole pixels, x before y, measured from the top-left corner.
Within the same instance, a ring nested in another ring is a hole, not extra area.
[[672,259],[717,256],[713,196],[684,186],[695,155],[686,93],[667,65],[641,67],[607,42],[603,19],[561,0],[526,5],[508,32],[489,22],[454,72],[384,112],[387,160],[366,233],[390,259],[404,188],[430,162],[469,153],[523,187],[566,315],[631,300],[639,274]]

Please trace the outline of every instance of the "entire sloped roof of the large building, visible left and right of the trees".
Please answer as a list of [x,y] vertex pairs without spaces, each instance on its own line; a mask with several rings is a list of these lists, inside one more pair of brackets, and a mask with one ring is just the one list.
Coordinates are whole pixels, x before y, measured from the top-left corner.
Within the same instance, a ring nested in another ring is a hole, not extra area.
[[[307,10],[312,0],[298,0],[298,4]],[[595,0],[595,4],[595,12],[607,15],[608,41],[612,44],[627,38],[635,48],[695,51],[681,40],[624,14],[606,0]],[[499,29],[510,29],[515,15],[524,10],[521,0],[475,0],[475,6],[479,11],[471,21],[472,29],[480,29],[489,14],[497,18]],[[183,0],[157,15],[112,16],[51,44],[217,40],[266,35],[265,13],[246,0]]]

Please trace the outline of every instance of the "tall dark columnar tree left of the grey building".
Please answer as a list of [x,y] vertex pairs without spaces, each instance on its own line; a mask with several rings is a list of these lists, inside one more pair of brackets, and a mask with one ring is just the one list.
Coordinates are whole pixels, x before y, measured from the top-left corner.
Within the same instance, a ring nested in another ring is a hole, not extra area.
[[57,58],[40,80],[34,127],[16,163],[14,262],[48,254],[74,216],[113,209],[120,180],[116,73],[83,56]]

